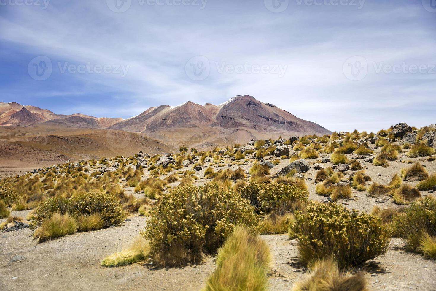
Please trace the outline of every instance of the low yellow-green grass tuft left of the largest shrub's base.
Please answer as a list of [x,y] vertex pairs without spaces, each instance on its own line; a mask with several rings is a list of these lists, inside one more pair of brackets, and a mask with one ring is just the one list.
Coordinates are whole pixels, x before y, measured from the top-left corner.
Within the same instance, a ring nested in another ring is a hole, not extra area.
[[100,263],[103,267],[120,267],[138,263],[146,259],[150,247],[143,237],[138,237],[118,253],[107,256]]

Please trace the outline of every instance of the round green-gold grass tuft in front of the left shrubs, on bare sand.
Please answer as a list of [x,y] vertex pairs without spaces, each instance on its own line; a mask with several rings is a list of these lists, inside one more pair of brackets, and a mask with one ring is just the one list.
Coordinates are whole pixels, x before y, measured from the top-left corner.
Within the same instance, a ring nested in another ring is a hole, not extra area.
[[42,243],[46,240],[73,234],[76,230],[77,223],[74,218],[68,214],[61,216],[56,212],[50,218],[44,220],[33,236],[38,240],[38,243]]

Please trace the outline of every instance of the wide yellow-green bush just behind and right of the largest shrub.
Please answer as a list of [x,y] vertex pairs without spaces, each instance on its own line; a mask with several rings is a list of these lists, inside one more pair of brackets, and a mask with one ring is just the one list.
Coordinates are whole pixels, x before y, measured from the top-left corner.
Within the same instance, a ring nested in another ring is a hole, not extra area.
[[240,193],[255,206],[259,214],[268,214],[273,210],[287,212],[293,210],[292,205],[296,202],[306,202],[309,198],[307,189],[288,184],[249,183]]

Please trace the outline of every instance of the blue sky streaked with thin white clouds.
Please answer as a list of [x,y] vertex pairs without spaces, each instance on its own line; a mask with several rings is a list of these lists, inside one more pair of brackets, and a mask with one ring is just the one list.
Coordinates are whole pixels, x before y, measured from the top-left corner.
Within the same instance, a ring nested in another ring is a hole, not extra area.
[[0,0],[0,101],[58,114],[251,95],[332,131],[436,123],[436,0]]

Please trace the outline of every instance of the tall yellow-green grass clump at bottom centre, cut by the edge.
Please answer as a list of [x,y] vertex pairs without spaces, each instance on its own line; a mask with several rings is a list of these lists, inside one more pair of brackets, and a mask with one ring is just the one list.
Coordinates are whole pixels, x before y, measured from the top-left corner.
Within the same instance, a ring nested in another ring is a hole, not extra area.
[[267,244],[248,230],[237,227],[218,250],[217,268],[204,290],[267,290],[270,262]]

